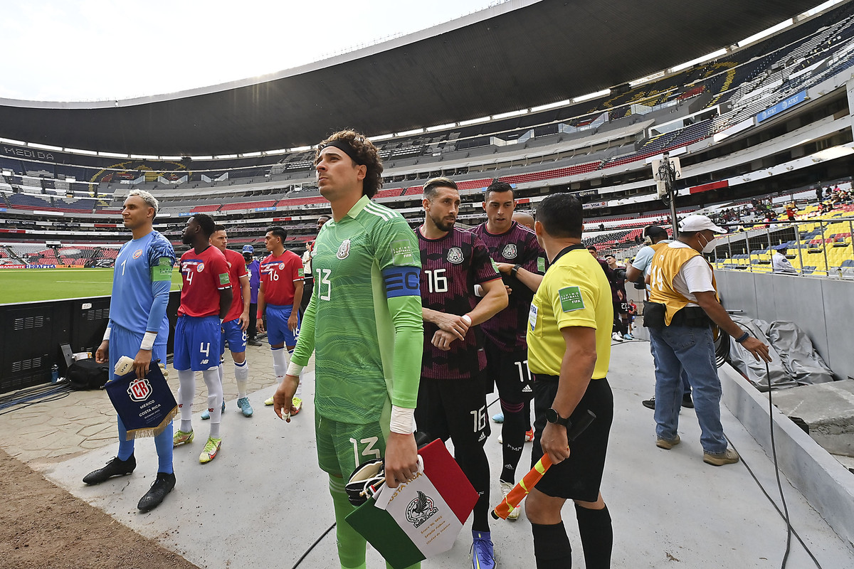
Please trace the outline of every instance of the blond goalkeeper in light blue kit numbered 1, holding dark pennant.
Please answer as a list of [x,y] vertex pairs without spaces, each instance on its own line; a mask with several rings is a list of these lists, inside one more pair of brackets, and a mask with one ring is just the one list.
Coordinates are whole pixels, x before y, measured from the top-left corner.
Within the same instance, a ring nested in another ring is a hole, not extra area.
[[[115,363],[122,356],[133,358],[137,377],[144,377],[157,361],[166,363],[169,320],[166,315],[175,252],[166,237],[152,227],[158,203],[149,192],[133,190],[121,209],[121,217],[133,239],[123,245],[115,259],[113,292],[109,307],[109,323],[95,359],[109,364],[113,374]],[[133,456],[133,439],[126,440],[127,431],[119,422],[119,453],[105,467],[86,474],[88,485],[101,484],[113,477],[130,474],[137,467]],[[173,472],[173,427],[170,422],[155,437],[157,476],[151,488],[137,504],[147,512],[163,502],[175,487]]]

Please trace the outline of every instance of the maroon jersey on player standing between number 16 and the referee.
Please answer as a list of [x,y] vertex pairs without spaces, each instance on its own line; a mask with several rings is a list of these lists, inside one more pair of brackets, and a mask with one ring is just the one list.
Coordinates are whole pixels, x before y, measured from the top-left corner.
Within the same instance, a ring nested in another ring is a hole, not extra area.
[[[510,229],[500,235],[489,233],[486,223],[471,229],[471,232],[481,238],[496,263],[521,264],[524,270],[532,273],[546,272],[546,253],[537,243],[532,229],[514,221]],[[524,350],[528,347],[525,335],[534,293],[514,276],[502,275],[502,278],[512,289],[510,302],[503,311],[481,324],[483,335],[502,350]]]

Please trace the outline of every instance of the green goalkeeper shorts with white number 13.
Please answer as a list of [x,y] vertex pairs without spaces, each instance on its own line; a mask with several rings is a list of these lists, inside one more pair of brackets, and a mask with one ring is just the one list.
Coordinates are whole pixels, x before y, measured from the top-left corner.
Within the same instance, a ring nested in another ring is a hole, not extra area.
[[359,425],[314,414],[320,468],[349,479],[362,462],[385,456],[385,435],[378,422]]

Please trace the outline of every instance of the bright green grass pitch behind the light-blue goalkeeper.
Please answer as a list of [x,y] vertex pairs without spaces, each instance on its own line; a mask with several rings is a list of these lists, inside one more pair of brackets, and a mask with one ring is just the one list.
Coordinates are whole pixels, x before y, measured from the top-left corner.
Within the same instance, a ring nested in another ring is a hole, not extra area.
[[[173,270],[172,290],[180,284],[181,274]],[[104,296],[112,286],[112,269],[0,269],[0,305]]]

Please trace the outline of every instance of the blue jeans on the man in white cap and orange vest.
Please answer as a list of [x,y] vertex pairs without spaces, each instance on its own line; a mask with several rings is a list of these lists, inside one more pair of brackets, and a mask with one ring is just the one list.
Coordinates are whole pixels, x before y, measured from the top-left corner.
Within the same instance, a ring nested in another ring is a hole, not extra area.
[[693,388],[703,450],[713,455],[726,451],[727,439],[721,425],[721,380],[717,377],[711,328],[649,328],[649,337],[655,359],[656,436],[676,438],[684,371]]

